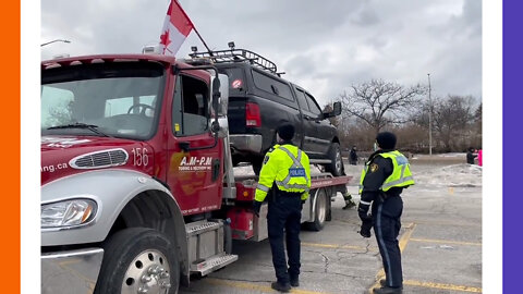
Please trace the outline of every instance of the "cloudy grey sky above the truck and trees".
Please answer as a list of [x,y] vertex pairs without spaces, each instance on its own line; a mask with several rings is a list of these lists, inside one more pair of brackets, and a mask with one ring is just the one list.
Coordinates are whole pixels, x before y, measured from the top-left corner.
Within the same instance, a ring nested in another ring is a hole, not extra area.
[[[324,105],[353,84],[428,84],[482,98],[481,0],[180,0],[211,49],[233,40],[272,60]],[[136,53],[159,40],[168,0],[41,1],[41,58]],[[193,32],[191,46],[205,49]]]

